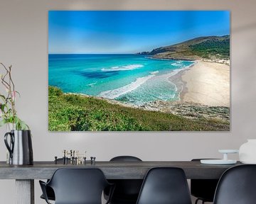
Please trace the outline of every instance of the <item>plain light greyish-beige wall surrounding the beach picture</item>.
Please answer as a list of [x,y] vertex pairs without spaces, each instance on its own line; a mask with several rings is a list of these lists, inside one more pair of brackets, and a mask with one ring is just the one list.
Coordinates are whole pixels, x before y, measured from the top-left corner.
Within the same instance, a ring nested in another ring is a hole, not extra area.
[[[18,114],[33,132],[34,160],[53,160],[62,149],[87,150],[109,160],[133,154],[143,160],[221,157],[256,138],[255,0],[0,0],[0,62],[13,65]],[[230,10],[230,132],[48,132],[48,10]],[[0,129],[0,160],[6,158]],[[238,159],[237,156],[233,158]],[[36,203],[39,185],[36,181]],[[15,203],[14,181],[0,181],[1,203]]]

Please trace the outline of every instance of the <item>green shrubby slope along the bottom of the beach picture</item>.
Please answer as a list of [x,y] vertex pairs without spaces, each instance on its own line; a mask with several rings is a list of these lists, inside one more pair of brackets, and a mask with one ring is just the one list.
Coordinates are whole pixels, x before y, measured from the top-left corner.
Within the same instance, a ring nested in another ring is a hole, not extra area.
[[50,131],[205,131],[229,130],[229,121],[188,119],[171,113],[146,111],[111,103],[103,98],[64,94],[48,87]]

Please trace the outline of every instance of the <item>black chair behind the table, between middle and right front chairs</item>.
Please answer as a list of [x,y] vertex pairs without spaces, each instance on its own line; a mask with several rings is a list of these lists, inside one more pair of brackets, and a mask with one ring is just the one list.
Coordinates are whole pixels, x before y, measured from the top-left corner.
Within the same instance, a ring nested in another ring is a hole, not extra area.
[[[192,162],[200,162],[201,159],[192,159]],[[196,197],[195,204],[199,200],[202,204],[213,202],[214,193],[218,184],[218,179],[191,179],[191,195]]]

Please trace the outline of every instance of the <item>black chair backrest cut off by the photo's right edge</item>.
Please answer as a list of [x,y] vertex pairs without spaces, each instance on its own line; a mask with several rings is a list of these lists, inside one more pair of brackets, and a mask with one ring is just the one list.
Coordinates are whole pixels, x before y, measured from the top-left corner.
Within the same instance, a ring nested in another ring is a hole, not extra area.
[[213,203],[255,204],[256,165],[240,165],[225,171],[220,177]]

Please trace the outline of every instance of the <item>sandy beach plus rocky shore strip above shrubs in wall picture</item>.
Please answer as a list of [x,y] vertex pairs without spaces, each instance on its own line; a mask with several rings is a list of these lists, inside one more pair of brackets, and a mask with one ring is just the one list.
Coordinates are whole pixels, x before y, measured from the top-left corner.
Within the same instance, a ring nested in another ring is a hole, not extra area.
[[[230,67],[228,65],[196,60],[189,67],[183,67],[183,70],[180,70],[177,74],[174,74],[168,79],[171,83],[176,85],[180,98],[179,101],[151,101],[142,106],[101,96],[89,96],[75,93],[65,94],[97,98],[119,106],[139,108],[145,111],[173,113],[174,115],[180,115],[185,118],[217,118],[220,120],[229,120],[229,74]],[[224,80],[225,86],[220,83],[223,81],[223,77],[224,79],[226,77],[226,80]],[[203,87],[203,89],[200,87]],[[224,95],[219,94],[219,91],[222,93],[223,87],[225,87]],[[214,97],[210,97],[210,94],[208,94],[209,91]],[[224,102],[222,101],[223,98]],[[218,99],[221,100],[218,101]]]

